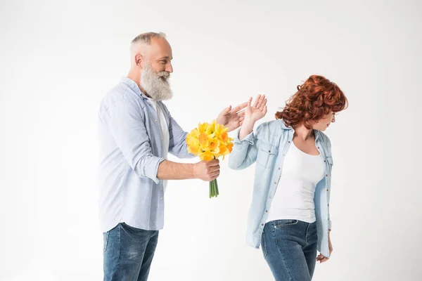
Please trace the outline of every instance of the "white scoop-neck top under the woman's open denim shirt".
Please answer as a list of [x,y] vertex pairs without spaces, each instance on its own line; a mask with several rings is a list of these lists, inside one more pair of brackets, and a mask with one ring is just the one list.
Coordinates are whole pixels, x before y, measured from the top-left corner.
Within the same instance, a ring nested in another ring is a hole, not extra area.
[[309,155],[292,142],[283,162],[280,181],[271,202],[267,222],[279,219],[297,219],[314,223],[314,192],[324,178],[324,160],[321,155]]

